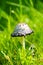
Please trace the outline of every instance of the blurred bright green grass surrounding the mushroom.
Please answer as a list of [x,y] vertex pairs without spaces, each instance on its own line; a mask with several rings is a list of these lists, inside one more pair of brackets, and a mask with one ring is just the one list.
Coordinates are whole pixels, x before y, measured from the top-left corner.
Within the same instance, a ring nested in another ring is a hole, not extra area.
[[[20,22],[34,31],[26,36],[26,50],[11,37]],[[0,0],[0,65],[43,65],[43,0]]]

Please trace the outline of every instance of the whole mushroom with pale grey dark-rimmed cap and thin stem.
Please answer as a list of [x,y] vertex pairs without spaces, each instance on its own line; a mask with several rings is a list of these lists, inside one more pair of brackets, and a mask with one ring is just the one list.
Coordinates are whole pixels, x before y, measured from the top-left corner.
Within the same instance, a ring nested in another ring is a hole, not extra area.
[[15,30],[11,34],[12,37],[23,37],[22,38],[22,45],[25,49],[25,36],[30,35],[33,33],[33,31],[30,29],[30,27],[25,23],[19,23],[16,25]]

